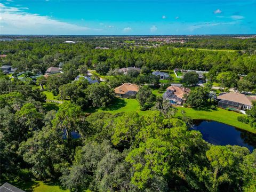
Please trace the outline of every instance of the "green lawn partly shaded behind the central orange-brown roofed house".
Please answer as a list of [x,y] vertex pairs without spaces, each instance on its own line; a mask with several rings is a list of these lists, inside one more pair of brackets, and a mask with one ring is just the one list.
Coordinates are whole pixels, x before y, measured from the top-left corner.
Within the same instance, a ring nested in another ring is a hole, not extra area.
[[95,111],[106,111],[110,113],[120,113],[127,111],[136,111],[139,115],[145,115],[149,111],[141,111],[140,104],[136,99],[124,99],[124,98],[115,98],[114,102],[105,108],[99,109],[89,109],[87,112],[94,113]]

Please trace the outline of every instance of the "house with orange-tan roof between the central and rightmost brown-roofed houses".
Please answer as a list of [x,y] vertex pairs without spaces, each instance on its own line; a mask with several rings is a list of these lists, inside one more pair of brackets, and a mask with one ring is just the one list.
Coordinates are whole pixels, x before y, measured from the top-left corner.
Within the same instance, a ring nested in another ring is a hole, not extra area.
[[190,89],[179,87],[179,86],[169,86],[163,94],[163,99],[170,101],[173,105],[182,105],[186,99],[184,95],[190,93]]

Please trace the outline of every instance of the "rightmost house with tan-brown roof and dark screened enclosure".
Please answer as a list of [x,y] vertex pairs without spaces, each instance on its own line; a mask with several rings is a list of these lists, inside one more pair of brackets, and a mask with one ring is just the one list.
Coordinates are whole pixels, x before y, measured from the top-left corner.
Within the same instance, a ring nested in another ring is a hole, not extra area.
[[234,92],[220,93],[217,99],[218,107],[236,111],[251,109],[252,101],[256,101],[256,97]]

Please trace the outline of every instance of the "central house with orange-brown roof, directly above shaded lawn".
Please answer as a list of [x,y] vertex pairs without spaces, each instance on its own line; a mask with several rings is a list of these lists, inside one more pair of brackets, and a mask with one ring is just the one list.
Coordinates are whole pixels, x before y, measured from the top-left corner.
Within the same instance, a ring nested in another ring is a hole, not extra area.
[[124,83],[114,89],[116,96],[121,98],[135,98],[139,91],[139,86],[131,83]]

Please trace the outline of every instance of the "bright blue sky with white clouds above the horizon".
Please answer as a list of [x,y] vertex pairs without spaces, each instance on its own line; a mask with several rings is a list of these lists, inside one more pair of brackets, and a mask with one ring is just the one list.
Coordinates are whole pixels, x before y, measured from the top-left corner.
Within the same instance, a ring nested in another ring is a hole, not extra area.
[[256,0],[1,0],[0,34],[256,34]]

